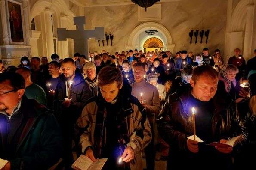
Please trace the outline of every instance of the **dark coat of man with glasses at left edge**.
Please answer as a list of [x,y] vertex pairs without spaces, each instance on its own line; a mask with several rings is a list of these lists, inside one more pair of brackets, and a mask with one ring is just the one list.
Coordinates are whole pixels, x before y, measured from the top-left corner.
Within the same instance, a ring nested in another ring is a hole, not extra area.
[[[20,127],[17,124],[20,122],[24,122],[23,128],[15,129]],[[12,170],[46,170],[59,161],[62,154],[59,125],[51,111],[37,101],[23,97],[20,109],[10,120],[6,115],[0,114],[0,124],[0,158],[9,160]],[[13,155],[6,153],[7,143],[12,143],[14,139],[4,142],[4,125],[11,126],[8,139],[12,134],[21,131]],[[9,155],[9,158],[6,158],[6,155]]]

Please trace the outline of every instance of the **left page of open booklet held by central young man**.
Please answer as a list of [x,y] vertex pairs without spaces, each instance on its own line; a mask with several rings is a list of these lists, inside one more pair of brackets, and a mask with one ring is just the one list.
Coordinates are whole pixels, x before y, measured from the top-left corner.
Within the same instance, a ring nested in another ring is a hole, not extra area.
[[76,170],[88,170],[91,164],[93,164],[93,161],[90,158],[85,155],[81,155],[74,164],[72,164],[71,168]]

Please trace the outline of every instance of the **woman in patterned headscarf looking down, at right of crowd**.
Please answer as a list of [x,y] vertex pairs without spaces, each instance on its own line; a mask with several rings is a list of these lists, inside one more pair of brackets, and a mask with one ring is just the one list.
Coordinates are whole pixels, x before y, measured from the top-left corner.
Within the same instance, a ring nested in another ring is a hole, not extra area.
[[225,65],[220,71],[217,94],[222,95],[225,101],[234,100],[239,103],[247,97],[235,79],[238,72],[237,67],[232,64]]

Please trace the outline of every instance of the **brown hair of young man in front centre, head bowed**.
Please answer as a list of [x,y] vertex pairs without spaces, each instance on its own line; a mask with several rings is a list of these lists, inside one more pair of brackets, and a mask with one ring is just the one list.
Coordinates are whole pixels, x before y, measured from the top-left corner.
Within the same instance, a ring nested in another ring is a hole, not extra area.
[[120,69],[116,67],[103,67],[99,72],[98,81],[99,86],[117,82],[117,87],[119,88],[123,84],[123,75]]

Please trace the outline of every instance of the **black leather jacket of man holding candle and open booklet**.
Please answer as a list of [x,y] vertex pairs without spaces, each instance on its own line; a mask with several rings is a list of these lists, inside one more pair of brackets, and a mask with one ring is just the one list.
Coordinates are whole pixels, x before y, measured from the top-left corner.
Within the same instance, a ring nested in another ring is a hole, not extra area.
[[[190,92],[177,95],[169,95],[162,116],[157,120],[157,128],[160,136],[170,144],[169,155],[182,157],[186,152],[187,137],[193,135],[193,121],[188,114],[188,101]],[[220,96],[212,98],[214,113],[212,117],[213,139],[217,142],[224,138],[235,137],[243,134],[247,137],[247,129],[237,114],[237,108],[232,101],[223,101]],[[234,149],[233,149],[234,150]]]

